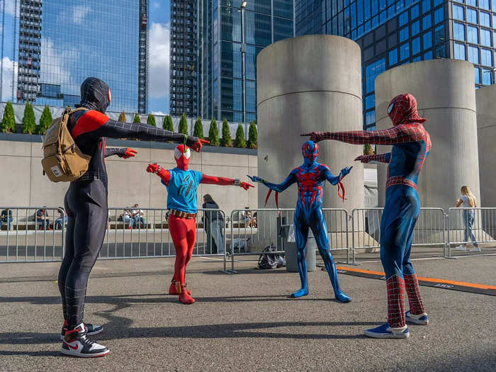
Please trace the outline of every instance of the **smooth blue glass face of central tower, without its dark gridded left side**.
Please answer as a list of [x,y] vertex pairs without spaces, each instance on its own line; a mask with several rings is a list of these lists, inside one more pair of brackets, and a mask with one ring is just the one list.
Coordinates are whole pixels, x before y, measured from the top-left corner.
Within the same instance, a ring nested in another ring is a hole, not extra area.
[[[243,120],[241,0],[198,7],[198,111],[203,118]],[[257,55],[294,35],[293,0],[248,0],[244,10],[247,122],[257,120]]]

